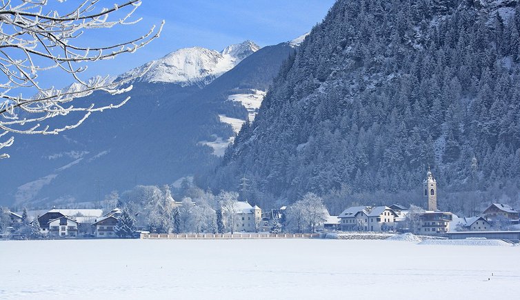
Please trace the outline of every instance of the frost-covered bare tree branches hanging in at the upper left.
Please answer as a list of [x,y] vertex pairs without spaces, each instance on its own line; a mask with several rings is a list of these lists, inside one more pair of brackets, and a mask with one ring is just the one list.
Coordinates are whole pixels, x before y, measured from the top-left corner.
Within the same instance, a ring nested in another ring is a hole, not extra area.
[[[0,150],[12,146],[12,134],[58,134],[76,128],[92,112],[119,108],[119,103],[97,105],[90,103],[74,106],[71,101],[94,91],[121,94],[132,88],[129,81],[135,77],[113,82],[104,79],[84,81],[79,74],[87,63],[112,59],[119,54],[132,53],[159,37],[159,28],[153,26],[146,34],[111,45],[85,46],[84,32],[128,26],[140,21],[132,14],[141,5],[140,0],[111,4],[97,8],[101,0],[78,1],[73,8],[59,1],[50,8],[48,0],[0,0]],[[70,4],[70,3],[69,3]],[[67,8],[61,12],[60,8]],[[87,43],[88,44],[88,43]],[[45,71],[57,69],[68,74],[79,88],[60,92],[41,86],[38,80]],[[141,74],[136,74],[139,77]],[[37,94],[24,97],[23,92]],[[64,126],[52,126],[48,120],[79,112],[78,121]],[[1,154],[0,158],[7,158]]]

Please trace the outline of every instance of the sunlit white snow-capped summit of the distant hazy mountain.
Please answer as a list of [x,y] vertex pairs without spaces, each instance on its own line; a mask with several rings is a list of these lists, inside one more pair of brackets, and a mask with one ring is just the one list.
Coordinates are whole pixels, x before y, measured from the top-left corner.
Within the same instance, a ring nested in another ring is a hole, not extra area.
[[230,45],[221,52],[201,47],[183,48],[134,68],[120,78],[136,77],[148,70],[137,81],[203,87],[259,49],[252,41]]

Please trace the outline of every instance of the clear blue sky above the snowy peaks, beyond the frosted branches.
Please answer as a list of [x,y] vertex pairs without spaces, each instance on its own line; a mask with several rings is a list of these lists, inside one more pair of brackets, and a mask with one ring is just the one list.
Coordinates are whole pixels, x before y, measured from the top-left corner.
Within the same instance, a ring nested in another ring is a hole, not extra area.
[[[122,2],[119,0],[117,2]],[[108,6],[116,0],[101,1]],[[72,1],[72,3],[75,3]],[[66,5],[71,2],[67,1]],[[134,26],[90,32],[83,41],[110,44],[147,32],[154,24],[166,21],[161,37],[134,54],[94,63],[82,77],[96,74],[121,74],[143,63],[190,46],[222,50],[232,43],[247,39],[259,46],[289,41],[304,34],[325,17],[334,0],[143,0],[135,12],[143,20]],[[59,8],[59,6],[57,6]],[[58,75],[52,72],[52,77]],[[43,75],[43,74],[41,74]],[[52,82],[57,88],[67,86],[69,79]]]

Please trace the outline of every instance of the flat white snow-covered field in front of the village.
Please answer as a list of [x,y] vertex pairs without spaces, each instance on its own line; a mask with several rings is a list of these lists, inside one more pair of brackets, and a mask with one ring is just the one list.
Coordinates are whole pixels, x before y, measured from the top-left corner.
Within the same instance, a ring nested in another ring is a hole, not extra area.
[[0,241],[0,254],[0,299],[520,297],[520,247],[512,246],[331,239]]

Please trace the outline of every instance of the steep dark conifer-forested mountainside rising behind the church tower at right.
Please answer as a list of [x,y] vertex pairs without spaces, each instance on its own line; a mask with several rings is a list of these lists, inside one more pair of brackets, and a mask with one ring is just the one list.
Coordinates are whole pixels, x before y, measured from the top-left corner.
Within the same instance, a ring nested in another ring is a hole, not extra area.
[[339,0],[200,184],[338,213],[423,204],[431,166],[440,209],[518,206],[519,31],[518,1]]

